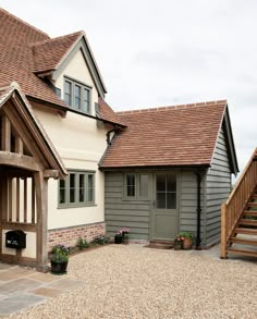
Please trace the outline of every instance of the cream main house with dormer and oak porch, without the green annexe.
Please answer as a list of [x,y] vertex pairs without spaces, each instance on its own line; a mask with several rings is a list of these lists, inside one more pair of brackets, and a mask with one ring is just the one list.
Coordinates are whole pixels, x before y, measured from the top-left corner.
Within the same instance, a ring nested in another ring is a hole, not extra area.
[[[54,244],[105,234],[98,163],[125,125],[84,32],[52,39],[2,9],[0,21],[0,259],[45,268]],[[7,247],[12,230],[25,249]]]

